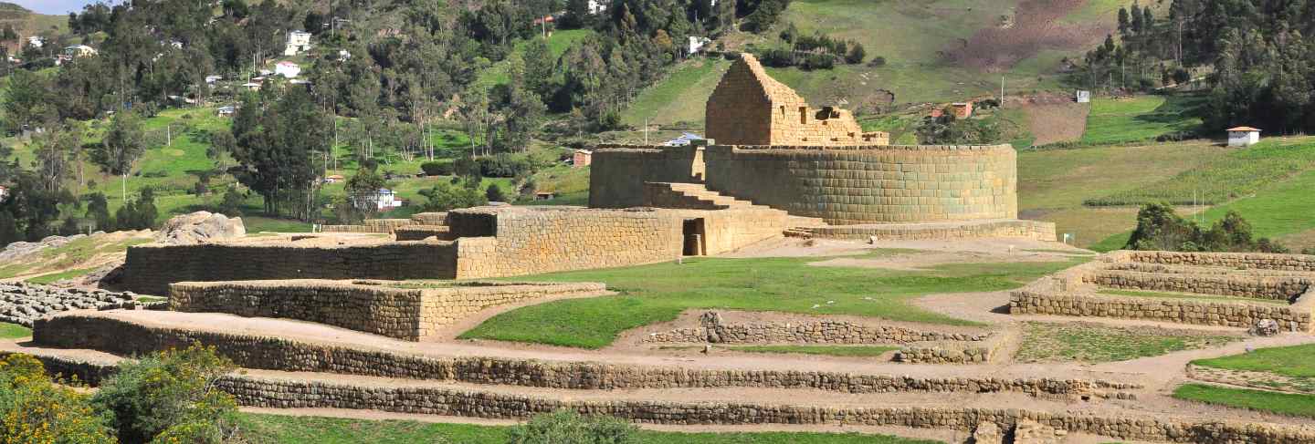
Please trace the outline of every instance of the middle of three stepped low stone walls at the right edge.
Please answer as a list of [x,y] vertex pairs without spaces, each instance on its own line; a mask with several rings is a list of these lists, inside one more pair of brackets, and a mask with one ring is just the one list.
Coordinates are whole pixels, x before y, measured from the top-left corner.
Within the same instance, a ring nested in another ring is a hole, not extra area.
[[1291,301],[1306,293],[1312,282],[1312,280],[1304,277],[1211,276],[1131,271],[1102,271],[1085,276],[1084,281],[1099,286],[1128,290],[1184,292],[1276,301]]

